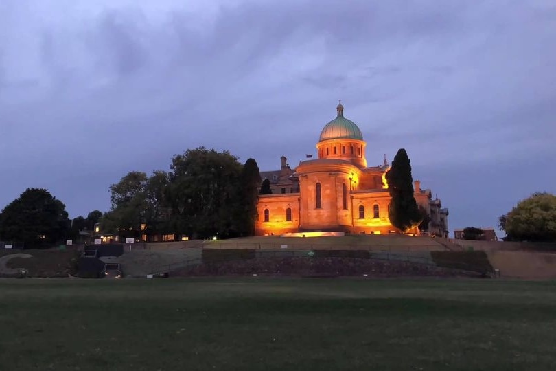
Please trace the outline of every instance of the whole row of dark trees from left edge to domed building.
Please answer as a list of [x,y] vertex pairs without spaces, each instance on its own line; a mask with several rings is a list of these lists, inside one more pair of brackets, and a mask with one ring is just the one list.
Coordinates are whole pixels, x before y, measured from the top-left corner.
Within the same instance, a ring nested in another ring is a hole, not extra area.
[[46,247],[93,232],[139,237],[253,236],[261,182],[255,159],[240,164],[228,151],[198,147],[172,157],[170,171],[131,171],[109,187],[111,208],[69,219],[65,204],[42,188],[28,188],[0,213],[0,240]]

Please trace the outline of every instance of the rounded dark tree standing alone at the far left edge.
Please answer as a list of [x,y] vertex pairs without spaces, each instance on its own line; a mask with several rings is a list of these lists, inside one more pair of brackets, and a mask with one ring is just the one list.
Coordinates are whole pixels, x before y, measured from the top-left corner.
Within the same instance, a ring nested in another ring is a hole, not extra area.
[[49,247],[64,240],[71,222],[66,206],[47,190],[27,188],[0,214],[0,239]]

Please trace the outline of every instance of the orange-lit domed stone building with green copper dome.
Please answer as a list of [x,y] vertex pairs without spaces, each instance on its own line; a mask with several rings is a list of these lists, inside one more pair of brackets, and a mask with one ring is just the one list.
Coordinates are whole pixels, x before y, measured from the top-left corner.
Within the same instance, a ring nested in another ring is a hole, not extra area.
[[[282,156],[280,170],[261,172],[273,194],[259,196],[257,235],[399,232],[388,217],[390,165],[384,158],[380,166],[367,166],[367,144],[360,129],[344,117],[342,104],[336,110],[336,118],[326,124],[316,144],[318,159],[301,161],[292,170]],[[419,181],[415,199],[430,217],[428,232],[448,237],[448,209],[441,209],[430,190],[421,190]]]

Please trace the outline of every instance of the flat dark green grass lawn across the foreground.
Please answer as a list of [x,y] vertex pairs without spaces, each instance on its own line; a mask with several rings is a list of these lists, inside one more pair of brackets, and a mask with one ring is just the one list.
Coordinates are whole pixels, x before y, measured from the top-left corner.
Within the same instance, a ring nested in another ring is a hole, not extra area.
[[0,370],[554,370],[556,284],[0,280]]

